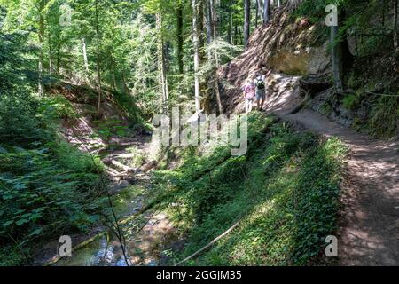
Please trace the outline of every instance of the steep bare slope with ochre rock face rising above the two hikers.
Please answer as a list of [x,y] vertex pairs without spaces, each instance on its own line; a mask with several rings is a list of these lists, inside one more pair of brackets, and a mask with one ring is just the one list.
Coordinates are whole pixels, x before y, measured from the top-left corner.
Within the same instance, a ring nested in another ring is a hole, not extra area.
[[[247,50],[218,70],[224,112],[244,109],[241,86],[246,78],[254,78],[256,72],[264,74],[270,68],[286,75],[327,72],[330,61],[322,39],[324,34],[321,25],[310,25],[306,19],[295,20],[286,8],[278,9],[270,25],[254,31]],[[278,92],[282,87],[279,83],[286,82],[276,79],[280,76],[271,76],[268,83]]]

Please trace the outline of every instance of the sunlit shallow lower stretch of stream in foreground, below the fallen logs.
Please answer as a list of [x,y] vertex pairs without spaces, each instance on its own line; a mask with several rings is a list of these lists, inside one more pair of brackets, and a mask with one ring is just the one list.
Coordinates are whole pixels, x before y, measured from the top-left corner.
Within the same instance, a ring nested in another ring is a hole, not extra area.
[[[130,185],[114,198],[120,219],[137,212],[145,200],[140,185]],[[176,241],[176,233],[168,217],[149,210],[122,226],[126,238],[129,265],[155,266],[160,263],[162,249]],[[54,266],[127,266],[121,244],[113,233],[104,233],[95,241],[60,259]]]

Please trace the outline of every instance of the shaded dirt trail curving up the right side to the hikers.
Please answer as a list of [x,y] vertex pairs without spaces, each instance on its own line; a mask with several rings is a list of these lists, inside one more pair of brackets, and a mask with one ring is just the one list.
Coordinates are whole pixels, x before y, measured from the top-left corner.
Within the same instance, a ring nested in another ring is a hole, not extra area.
[[[291,85],[299,77],[286,77]],[[281,84],[284,85],[284,84]],[[399,264],[399,143],[374,140],[304,109],[289,114],[301,101],[283,88],[267,101],[266,111],[300,129],[338,137],[349,148],[342,183],[338,230],[340,265]]]

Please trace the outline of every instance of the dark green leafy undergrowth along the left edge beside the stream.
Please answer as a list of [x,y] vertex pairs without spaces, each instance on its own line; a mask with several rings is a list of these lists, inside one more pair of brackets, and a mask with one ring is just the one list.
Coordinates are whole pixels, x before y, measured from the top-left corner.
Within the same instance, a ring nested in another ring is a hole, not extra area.
[[71,107],[59,97],[0,98],[0,265],[30,264],[38,244],[98,223],[103,164],[58,134]]

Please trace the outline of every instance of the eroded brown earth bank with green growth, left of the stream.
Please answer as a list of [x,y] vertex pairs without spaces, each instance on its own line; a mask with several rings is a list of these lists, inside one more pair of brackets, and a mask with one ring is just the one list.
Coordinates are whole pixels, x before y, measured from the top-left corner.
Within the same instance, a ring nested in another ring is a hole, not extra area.
[[[139,108],[129,95],[103,88],[101,114],[97,114],[98,93],[89,85],[60,82],[48,86],[57,102],[61,134],[70,143],[87,150],[104,150],[117,137],[132,137],[144,131]],[[118,143],[117,143],[118,144]]]

